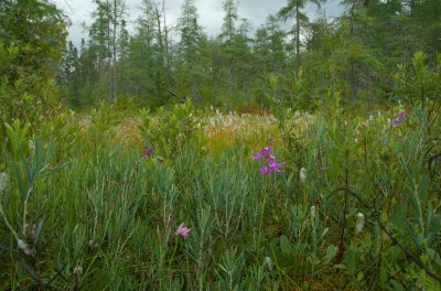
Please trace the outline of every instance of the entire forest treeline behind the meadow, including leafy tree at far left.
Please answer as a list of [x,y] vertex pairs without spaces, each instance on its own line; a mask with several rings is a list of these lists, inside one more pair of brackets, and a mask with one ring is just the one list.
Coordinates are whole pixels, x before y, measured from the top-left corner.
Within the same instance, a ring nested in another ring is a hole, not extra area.
[[[0,90],[29,93],[34,84],[30,95],[56,95],[74,108],[116,99],[157,107],[191,97],[227,108],[277,101],[310,109],[330,90],[344,101],[384,103],[398,98],[396,78],[415,74],[417,52],[430,67],[441,50],[439,0],[345,0],[336,19],[326,18],[323,1],[288,0],[256,29],[236,0],[224,0],[217,36],[201,26],[194,0],[182,1],[174,25],[165,0],[143,0],[132,34],[125,0],[93,2],[88,40],[76,47],[66,43],[68,19],[55,4],[2,1]],[[320,14],[314,20],[309,2]],[[293,25],[286,31],[283,23]]]

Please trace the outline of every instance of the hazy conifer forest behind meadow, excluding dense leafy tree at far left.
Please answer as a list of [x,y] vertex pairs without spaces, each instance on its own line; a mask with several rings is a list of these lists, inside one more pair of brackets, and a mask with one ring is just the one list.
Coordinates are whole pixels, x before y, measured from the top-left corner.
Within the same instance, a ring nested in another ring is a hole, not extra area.
[[[418,51],[428,53],[430,64],[441,47],[435,0],[343,1],[346,11],[332,20],[321,11],[315,19],[306,17],[305,4],[320,8],[322,1],[287,1],[255,34],[238,3],[224,1],[217,37],[207,37],[194,1],[185,1],[176,43],[161,3],[143,1],[136,33],[129,35],[123,6],[115,1],[116,12],[110,2],[96,1],[90,41],[66,47],[58,82],[72,107],[98,106],[121,95],[153,109],[173,104],[170,97],[176,94],[196,106],[227,110],[267,109],[276,97],[314,110],[330,89],[345,104],[385,104],[397,101],[402,87],[392,77],[397,65],[409,69]],[[280,20],[288,19],[294,25],[286,32]]]

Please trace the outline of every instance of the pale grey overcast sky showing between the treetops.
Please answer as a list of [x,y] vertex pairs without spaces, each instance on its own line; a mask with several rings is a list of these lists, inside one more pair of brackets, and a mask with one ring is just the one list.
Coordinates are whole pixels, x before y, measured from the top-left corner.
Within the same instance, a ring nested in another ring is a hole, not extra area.
[[[64,9],[71,18],[72,26],[69,28],[69,36],[76,45],[79,44],[82,37],[87,39],[87,33],[83,32],[82,23],[90,24],[90,13],[95,10],[92,0],[53,0],[60,8]],[[127,12],[129,14],[129,32],[133,32],[135,22],[139,17],[142,0],[126,0]],[[168,25],[174,25],[180,15],[181,7],[184,0],[166,0],[166,18]],[[209,36],[216,36],[220,32],[223,23],[222,0],[195,0],[197,12],[200,14],[200,23]],[[239,0],[238,14],[239,18],[246,18],[252,29],[257,29],[265,23],[268,15],[277,13],[287,0]],[[344,8],[338,4],[338,0],[329,0],[322,7],[327,18],[338,17]],[[313,4],[305,8],[308,15],[314,18],[318,9]]]

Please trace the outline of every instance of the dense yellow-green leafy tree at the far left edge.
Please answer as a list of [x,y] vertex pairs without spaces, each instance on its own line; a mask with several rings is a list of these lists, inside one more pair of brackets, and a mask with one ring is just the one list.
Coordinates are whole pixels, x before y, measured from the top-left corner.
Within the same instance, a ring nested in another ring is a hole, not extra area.
[[64,15],[47,1],[7,0],[0,17],[0,121],[41,123],[60,110],[53,77],[65,45]]

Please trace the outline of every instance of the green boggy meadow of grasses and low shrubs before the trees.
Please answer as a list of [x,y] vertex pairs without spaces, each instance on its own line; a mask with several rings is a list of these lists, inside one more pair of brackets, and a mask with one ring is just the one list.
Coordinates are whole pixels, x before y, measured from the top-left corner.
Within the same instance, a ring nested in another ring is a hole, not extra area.
[[[101,106],[33,136],[18,125],[0,148],[0,285],[439,289],[440,129],[419,107],[239,115],[190,103],[131,117]],[[262,175],[251,154],[270,143],[286,165]]]

